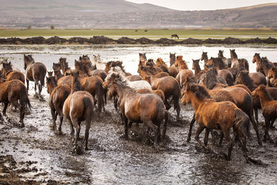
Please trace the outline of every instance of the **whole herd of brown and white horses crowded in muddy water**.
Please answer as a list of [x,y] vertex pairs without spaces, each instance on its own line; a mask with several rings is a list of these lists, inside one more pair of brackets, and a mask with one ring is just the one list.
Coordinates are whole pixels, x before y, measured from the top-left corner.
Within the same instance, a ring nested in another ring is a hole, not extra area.
[[[238,58],[234,49],[230,50],[230,55],[231,58],[225,58],[220,50],[217,58],[208,59],[208,54],[203,52],[199,60],[193,60],[192,71],[181,55],[176,57],[175,53],[170,53],[168,66],[161,58],[154,62],[147,59],[145,53],[139,53],[139,75],[127,73],[123,62],[101,62],[100,55],[93,55],[91,62],[87,55],[82,55],[75,60],[74,69],[69,67],[66,58],[60,58],[53,63],[53,71],[48,71],[48,76],[44,64],[35,62],[32,55],[24,55],[25,75],[13,70],[10,62],[1,62],[0,102],[4,105],[3,115],[6,115],[10,103],[20,110],[20,123],[24,127],[26,107],[31,107],[28,99],[29,81],[35,82],[35,94],[38,87],[38,96],[41,97],[46,77],[53,130],[57,134],[62,133],[65,117],[69,121],[75,147],[78,146],[80,126],[84,121],[84,148],[87,149],[93,112],[95,109],[105,111],[107,97],[114,100],[126,138],[132,123],[143,123],[155,133],[154,144],[159,144],[165,139],[167,124],[172,116],[168,110],[172,105],[179,118],[181,98],[181,103],[191,103],[195,110],[187,141],[190,141],[196,121],[195,140],[200,146],[210,150],[207,148],[208,135],[212,130],[219,130],[219,144],[225,139],[228,146],[228,154],[224,155],[226,160],[231,159],[233,141],[237,141],[245,159],[255,162],[247,155],[249,127],[251,123],[258,144],[262,145],[258,123],[258,109],[262,109],[265,118],[263,140],[273,142],[269,129],[274,127],[277,117],[277,65],[255,53],[252,62],[256,62],[257,72],[249,73],[246,59]],[[204,60],[203,69],[199,66],[200,60]],[[58,129],[57,116],[60,117]],[[1,114],[0,118],[3,119]],[[230,136],[232,128],[233,139]],[[202,143],[199,134],[204,129]],[[213,132],[211,134],[213,136]]]

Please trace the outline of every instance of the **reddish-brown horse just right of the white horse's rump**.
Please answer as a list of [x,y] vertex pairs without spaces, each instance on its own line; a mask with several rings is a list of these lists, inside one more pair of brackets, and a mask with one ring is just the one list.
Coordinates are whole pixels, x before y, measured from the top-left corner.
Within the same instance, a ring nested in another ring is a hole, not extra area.
[[172,96],[174,109],[177,112],[177,118],[180,114],[179,98],[181,96],[181,89],[179,83],[172,76],[166,76],[163,78],[156,78],[154,76],[145,76],[144,80],[148,81],[153,90],[160,89],[165,95],[166,109],[170,109],[170,103],[168,98]]

